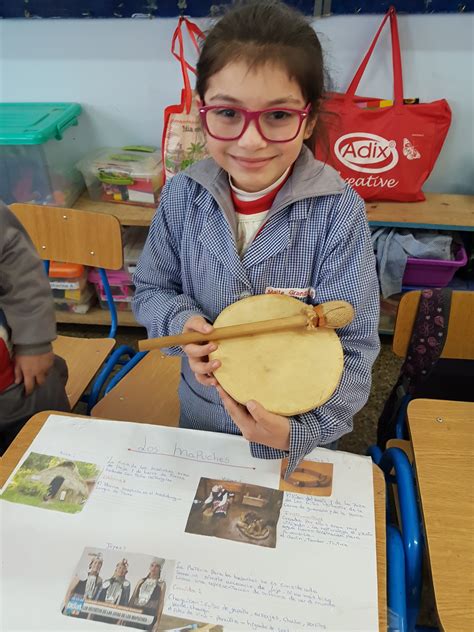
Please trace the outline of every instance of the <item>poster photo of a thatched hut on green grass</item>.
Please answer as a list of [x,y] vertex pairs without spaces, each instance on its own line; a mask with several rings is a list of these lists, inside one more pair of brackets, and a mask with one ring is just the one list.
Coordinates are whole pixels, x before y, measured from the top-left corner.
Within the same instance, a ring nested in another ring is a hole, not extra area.
[[82,510],[100,469],[94,463],[31,452],[0,498],[65,513]]

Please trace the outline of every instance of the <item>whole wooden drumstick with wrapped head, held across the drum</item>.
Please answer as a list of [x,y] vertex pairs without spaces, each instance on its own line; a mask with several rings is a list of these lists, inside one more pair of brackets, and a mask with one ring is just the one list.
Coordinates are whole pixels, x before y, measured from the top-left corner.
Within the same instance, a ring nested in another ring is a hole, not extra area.
[[352,322],[353,318],[354,309],[350,303],[346,303],[346,301],[329,301],[321,305],[316,305],[315,307],[305,306],[301,314],[297,314],[296,316],[261,320],[255,323],[243,323],[241,325],[230,325],[229,327],[216,327],[209,334],[188,331],[176,336],[163,336],[162,338],[140,340],[138,342],[138,348],[140,351],[151,351],[164,347],[212,342],[213,340],[240,338],[242,336],[255,336],[256,334],[288,331],[289,329],[306,328],[312,330],[317,327],[338,329],[339,327],[348,325]]

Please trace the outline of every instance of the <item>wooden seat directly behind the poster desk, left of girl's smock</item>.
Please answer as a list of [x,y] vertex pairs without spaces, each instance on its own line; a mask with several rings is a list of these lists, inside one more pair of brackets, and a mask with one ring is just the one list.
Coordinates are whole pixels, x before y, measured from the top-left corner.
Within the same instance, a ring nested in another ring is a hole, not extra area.
[[178,426],[181,358],[150,351],[91,411],[93,417]]

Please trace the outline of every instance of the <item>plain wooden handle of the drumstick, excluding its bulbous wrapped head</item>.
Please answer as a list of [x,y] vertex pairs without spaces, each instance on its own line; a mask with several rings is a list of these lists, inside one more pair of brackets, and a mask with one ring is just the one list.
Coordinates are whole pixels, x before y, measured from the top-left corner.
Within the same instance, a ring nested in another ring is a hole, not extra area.
[[178,334],[177,336],[163,336],[162,338],[139,340],[138,348],[140,351],[151,351],[152,349],[162,349],[163,347],[174,347],[176,345],[211,342],[213,340],[224,340],[226,338],[240,338],[241,336],[253,336],[255,334],[285,331],[288,329],[302,329],[307,325],[308,315],[303,312],[302,314],[287,316],[285,318],[261,320],[256,323],[230,325],[229,327],[216,327],[209,334],[200,334],[196,331],[188,331],[184,334]]

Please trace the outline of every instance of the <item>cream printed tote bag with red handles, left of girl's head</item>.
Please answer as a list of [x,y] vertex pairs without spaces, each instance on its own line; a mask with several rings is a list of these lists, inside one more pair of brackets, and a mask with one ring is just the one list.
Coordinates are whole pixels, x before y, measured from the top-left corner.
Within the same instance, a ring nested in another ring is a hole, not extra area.
[[[169,105],[164,111],[161,144],[164,180],[207,156],[206,139],[189,79],[189,72],[196,74],[196,69],[186,61],[183,29],[186,30],[198,53],[198,40],[205,37],[196,24],[185,17],[179,18],[171,43],[171,53],[181,65],[184,87],[181,91],[181,102]],[[177,46],[178,50],[176,50]]]

